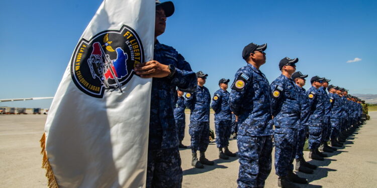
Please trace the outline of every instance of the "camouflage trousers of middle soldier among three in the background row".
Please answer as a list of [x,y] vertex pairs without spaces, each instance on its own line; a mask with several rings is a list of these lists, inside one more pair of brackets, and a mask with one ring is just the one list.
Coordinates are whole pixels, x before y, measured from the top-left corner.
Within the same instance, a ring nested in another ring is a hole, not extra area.
[[210,143],[210,122],[190,122],[191,150],[206,151]]

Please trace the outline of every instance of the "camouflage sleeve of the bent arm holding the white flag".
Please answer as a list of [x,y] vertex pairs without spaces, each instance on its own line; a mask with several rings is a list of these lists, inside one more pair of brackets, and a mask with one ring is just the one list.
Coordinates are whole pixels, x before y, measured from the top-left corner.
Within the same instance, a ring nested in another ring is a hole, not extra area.
[[171,83],[183,92],[194,92],[197,87],[197,76],[191,69],[189,63],[184,61],[182,55],[178,54],[177,66]]

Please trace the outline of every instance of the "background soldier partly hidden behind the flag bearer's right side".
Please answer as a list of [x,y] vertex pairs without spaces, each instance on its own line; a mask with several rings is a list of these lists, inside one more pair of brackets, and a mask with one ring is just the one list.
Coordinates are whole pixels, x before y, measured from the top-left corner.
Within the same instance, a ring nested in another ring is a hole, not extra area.
[[176,102],[175,102],[175,108],[174,108],[174,119],[175,119],[175,127],[178,132],[178,140],[180,148],[187,148],[187,146],[182,144],[182,140],[184,138],[184,127],[186,126],[185,122],[185,114],[184,109],[186,106],[184,106],[184,97],[183,97],[183,91],[180,91],[179,88],[177,88],[177,95],[176,95]]

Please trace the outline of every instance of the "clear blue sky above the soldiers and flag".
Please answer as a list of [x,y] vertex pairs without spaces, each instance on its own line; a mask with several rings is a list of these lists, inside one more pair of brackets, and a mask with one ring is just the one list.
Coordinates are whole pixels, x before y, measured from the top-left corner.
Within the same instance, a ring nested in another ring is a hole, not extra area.
[[[0,98],[54,96],[85,27],[102,1],[6,1],[0,8]],[[163,44],[192,69],[209,74],[211,94],[221,78],[245,65],[242,49],[267,43],[261,67],[271,83],[284,57],[297,71],[331,79],[350,94],[377,94],[376,1],[173,1]],[[347,61],[361,59],[347,63]],[[309,84],[305,88],[309,88]],[[230,91],[230,90],[229,90]],[[51,100],[0,106],[48,108]]]

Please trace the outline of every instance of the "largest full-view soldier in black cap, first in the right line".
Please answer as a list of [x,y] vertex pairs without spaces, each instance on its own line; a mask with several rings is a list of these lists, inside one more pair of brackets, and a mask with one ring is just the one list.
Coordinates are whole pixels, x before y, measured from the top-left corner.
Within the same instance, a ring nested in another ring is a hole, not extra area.
[[271,90],[259,70],[266,48],[267,44],[245,46],[242,58],[247,65],[236,72],[229,97],[230,109],[238,116],[238,187],[264,187],[271,172]]

